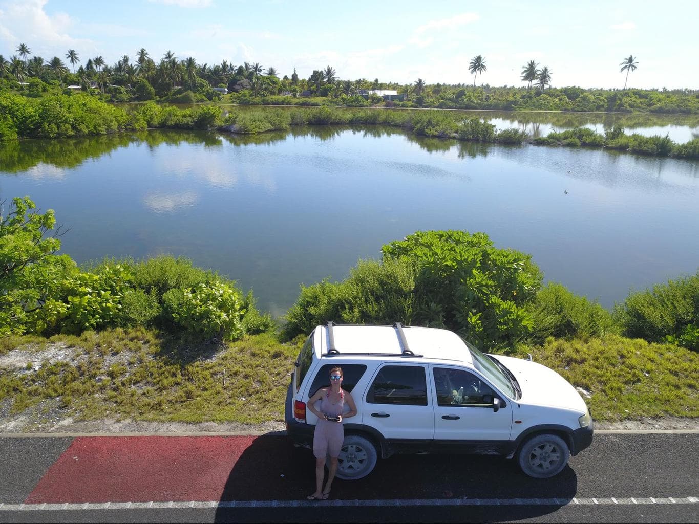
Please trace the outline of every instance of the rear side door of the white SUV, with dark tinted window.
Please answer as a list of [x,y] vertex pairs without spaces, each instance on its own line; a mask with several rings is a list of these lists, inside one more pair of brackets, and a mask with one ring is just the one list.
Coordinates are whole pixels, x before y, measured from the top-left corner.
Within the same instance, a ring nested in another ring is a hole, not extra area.
[[363,423],[378,430],[396,451],[431,447],[434,395],[426,375],[425,365],[381,365],[362,400]]

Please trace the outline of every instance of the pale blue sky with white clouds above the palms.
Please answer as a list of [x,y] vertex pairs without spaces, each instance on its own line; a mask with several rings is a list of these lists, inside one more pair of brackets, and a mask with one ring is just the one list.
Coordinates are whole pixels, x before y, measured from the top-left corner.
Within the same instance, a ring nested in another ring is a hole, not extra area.
[[552,86],[623,87],[619,63],[638,61],[628,85],[699,88],[699,3],[666,0],[375,1],[0,0],[0,54],[26,43],[65,61],[102,55],[113,64],[146,48],[199,63],[273,66],[308,78],[331,65],[340,78],[524,85],[528,60],[552,71]]

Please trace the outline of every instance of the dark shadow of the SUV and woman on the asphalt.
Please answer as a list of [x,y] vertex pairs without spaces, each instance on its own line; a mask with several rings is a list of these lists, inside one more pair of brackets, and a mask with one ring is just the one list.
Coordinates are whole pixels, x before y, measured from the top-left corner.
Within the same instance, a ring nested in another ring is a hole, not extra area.
[[[317,507],[289,507],[289,502],[273,508],[271,501],[301,501],[315,490],[315,460],[308,449],[296,448],[284,436],[264,436],[255,439],[243,451],[231,470],[220,497],[221,502],[267,501],[259,509],[225,507],[216,512],[216,522],[265,520],[315,521],[331,516],[332,501],[384,500],[383,507],[356,502],[342,504],[345,522],[421,521],[439,512],[437,521],[502,521],[537,518],[550,514],[568,504],[577,490],[577,476],[570,466],[552,479],[531,479],[519,470],[514,460],[489,456],[396,455],[379,460],[375,470],[364,479],[336,479],[329,502]],[[516,501],[518,500],[519,501]],[[546,504],[526,500],[546,499]],[[554,503],[552,500],[557,499]],[[401,504],[401,500],[405,503]],[[415,506],[414,500],[444,500],[440,506],[429,502]],[[459,502],[454,502],[454,501]],[[469,500],[491,501],[490,504],[467,504]],[[494,500],[506,500],[497,506]],[[397,501],[397,502],[393,502]],[[448,502],[451,501],[451,502]],[[521,504],[514,505],[514,502]],[[458,504],[458,505],[457,505]],[[427,506],[430,509],[426,509]],[[334,511],[338,507],[334,506]],[[324,517],[324,518],[322,518]]]

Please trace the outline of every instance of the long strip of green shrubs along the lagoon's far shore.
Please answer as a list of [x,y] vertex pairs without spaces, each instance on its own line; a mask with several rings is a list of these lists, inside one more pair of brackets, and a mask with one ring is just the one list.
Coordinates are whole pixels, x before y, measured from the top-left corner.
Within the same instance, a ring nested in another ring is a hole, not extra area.
[[531,138],[517,128],[502,129],[477,117],[440,110],[376,110],[329,106],[314,108],[245,108],[227,114],[217,105],[180,109],[146,102],[129,110],[87,94],[31,99],[0,93],[0,142],[19,138],[69,138],[147,129],[217,130],[238,134],[288,131],[301,126],[379,125],[429,138],[517,145],[594,147],[656,157],[699,159],[699,138],[677,144],[668,136],[627,134],[616,124],[605,134],[577,127]]

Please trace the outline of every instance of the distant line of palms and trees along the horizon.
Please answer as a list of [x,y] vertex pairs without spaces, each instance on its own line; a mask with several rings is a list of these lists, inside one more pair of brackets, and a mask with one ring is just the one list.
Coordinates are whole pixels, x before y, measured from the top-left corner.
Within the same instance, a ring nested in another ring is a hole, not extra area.
[[[526,82],[526,87],[476,86],[477,75],[487,71],[486,60],[480,54],[468,66],[473,74],[473,85],[428,85],[423,78],[410,84],[380,82],[378,78],[373,81],[342,79],[332,66],[314,70],[308,78],[301,78],[296,69],[291,75],[280,78],[274,67],[265,69],[257,62],[244,62],[240,66],[226,60],[220,64],[199,64],[193,57],[180,59],[169,50],[157,60],[150,57],[145,48],[136,52],[135,60],[124,54],[112,66],[101,56],[87,59],[83,66],[78,52],[71,49],[65,54],[70,69],[60,57],[49,61],[32,57],[31,49],[24,43],[16,52],[9,60],[0,55],[0,90],[33,97],[68,94],[75,90],[69,86],[79,86],[103,99],[122,102],[223,101],[271,105],[699,113],[699,94],[695,90],[626,89],[628,75],[638,64],[633,55],[619,64],[620,73],[626,73],[624,89],[583,89],[551,87],[552,70],[534,60],[528,61],[521,70],[519,80]],[[359,96],[361,90],[375,89],[395,90],[404,94],[406,100],[384,101],[377,95]]]

